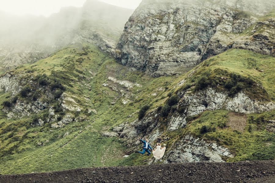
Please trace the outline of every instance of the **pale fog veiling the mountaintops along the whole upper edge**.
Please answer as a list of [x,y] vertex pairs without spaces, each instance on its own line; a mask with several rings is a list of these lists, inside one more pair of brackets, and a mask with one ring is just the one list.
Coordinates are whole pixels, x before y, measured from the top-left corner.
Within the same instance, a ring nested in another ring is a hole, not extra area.
[[[20,3],[16,4],[19,1]],[[147,7],[154,14],[155,10],[150,8],[151,6],[168,11],[177,4],[203,4],[204,1],[253,12],[256,16],[266,13],[275,5],[275,0],[0,0],[0,72],[3,68],[9,69],[18,64],[41,59],[46,54],[79,40],[89,41],[93,37],[93,32],[104,35],[116,43],[125,23],[140,2],[140,9],[136,13]],[[5,9],[7,2],[9,8]],[[35,9],[39,2],[48,3],[42,3],[46,11],[40,11],[39,7]],[[72,6],[62,7],[63,5]],[[41,14],[28,15],[33,12],[24,12],[25,6],[30,6],[29,9],[35,9],[35,12]],[[55,7],[49,9],[51,6]],[[18,12],[14,13],[16,11]],[[46,14],[49,16],[45,17]]]

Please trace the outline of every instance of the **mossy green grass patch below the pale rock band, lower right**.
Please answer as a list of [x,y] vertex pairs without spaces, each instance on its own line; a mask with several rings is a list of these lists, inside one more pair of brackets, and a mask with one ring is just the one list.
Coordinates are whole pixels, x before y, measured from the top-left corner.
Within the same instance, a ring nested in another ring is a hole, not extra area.
[[274,110],[262,114],[250,114],[245,130],[237,131],[224,127],[229,120],[228,111],[205,111],[197,119],[188,122],[184,133],[217,142],[229,148],[234,154],[234,157],[227,159],[229,162],[273,160],[275,135],[266,131],[265,127],[268,120],[274,116]]

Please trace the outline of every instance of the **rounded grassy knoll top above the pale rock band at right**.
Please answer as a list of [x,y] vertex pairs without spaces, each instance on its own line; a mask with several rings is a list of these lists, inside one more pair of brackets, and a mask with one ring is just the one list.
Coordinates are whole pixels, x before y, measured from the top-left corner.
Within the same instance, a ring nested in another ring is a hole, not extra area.
[[275,82],[274,58],[242,49],[231,49],[213,56],[195,68],[187,81],[195,81],[195,91],[206,87],[229,92],[230,96],[244,91],[253,99],[275,101],[275,91],[270,82]]

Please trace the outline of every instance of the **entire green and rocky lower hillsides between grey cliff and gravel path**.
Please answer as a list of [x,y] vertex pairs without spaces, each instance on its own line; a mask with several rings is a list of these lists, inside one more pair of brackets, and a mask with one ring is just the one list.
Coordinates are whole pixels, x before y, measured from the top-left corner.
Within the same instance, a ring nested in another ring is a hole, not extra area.
[[167,144],[163,163],[273,160],[273,70],[233,49],[154,78],[71,45],[1,76],[0,173],[156,163],[138,136]]

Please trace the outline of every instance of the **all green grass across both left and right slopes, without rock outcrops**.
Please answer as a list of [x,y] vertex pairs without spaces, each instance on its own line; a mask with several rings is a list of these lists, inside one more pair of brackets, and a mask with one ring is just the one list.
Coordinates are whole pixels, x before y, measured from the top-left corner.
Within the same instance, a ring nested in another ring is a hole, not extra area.
[[[227,89],[223,87],[225,83],[222,83],[220,77],[230,78],[230,73],[248,77],[262,86],[257,91],[260,92],[259,99],[274,101],[275,93],[272,85],[274,64],[274,57],[245,50],[229,50],[204,61],[189,73],[173,77],[152,78],[121,66],[94,45],[86,43],[72,45],[46,59],[20,66],[11,72],[13,74],[24,73],[23,77],[26,78],[35,78],[41,73],[45,73],[49,78],[59,78],[66,88],[64,92],[82,108],[80,113],[70,113],[75,118],[81,117],[84,120],[73,121],[63,128],[51,128],[51,124],[57,121],[45,123],[42,127],[33,127],[30,122],[35,115],[7,120],[1,110],[0,174],[144,164],[148,157],[131,154],[130,157],[123,158],[124,153],[129,149],[122,139],[102,137],[101,131],[107,131],[126,121],[136,120],[142,106],[149,105],[149,111],[163,106],[169,93],[186,87],[193,88],[195,92],[196,86],[200,86],[202,77],[213,81],[208,84],[214,83],[213,86],[222,91]],[[220,72],[216,72],[217,69]],[[187,78],[191,72],[193,72],[192,76],[186,79],[183,86],[179,87],[178,82]],[[120,84],[110,82],[108,77],[137,83],[141,87],[134,85],[133,88],[125,88]],[[220,83],[215,84],[214,81]],[[109,85],[104,86],[104,83]],[[257,98],[250,85],[242,86],[241,90]],[[9,98],[10,93],[0,93],[1,104]],[[123,99],[129,102],[123,104]],[[54,105],[55,102],[51,104]],[[95,109],[97,113],[88,113],[89,109]],[[62,111],[56,114],[65,115]],[[47,116],[48,109],[37,115],[41,118]],[[174,141],[191,133],[229,147],[236,156],[227,161],[274,159],[274,154],[272,154],[275,145],[274,134],[265,129],[268,120],[274,119],[274,111],[247,115],[245,127],[241,131],[230,127],[229,115],[230,112],[225,110],[206,111],[189,119],[186,128],[165,132],[164,135],[170,137],[167,150],[169,151],[169,145]],[[163,130],[166,128],[165,120],[164,118]],[[201,134],[202,126],[215,127],[216,130]],[[69,132],[69,135],[63,137],[66,132]],[[38,142],[45,144],[39,146]]]

